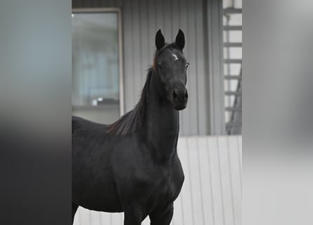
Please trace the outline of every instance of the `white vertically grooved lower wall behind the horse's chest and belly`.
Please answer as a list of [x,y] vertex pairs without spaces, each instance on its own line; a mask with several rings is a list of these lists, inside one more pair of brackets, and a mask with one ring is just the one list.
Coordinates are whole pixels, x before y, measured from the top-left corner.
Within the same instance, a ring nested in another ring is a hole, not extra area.
[[[172,225],[241,224],[241,136],[181,137],[178,153],[184,186],[174,203]],[[75,225],[120,225],[122,213],[78,208]],[[150,224],[146,218],[143,225]]]

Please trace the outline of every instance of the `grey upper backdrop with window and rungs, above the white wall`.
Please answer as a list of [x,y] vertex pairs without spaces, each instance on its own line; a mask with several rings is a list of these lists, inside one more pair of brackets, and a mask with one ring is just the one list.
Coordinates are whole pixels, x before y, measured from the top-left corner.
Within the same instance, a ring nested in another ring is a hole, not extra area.
[[241,0],[72,1],[72,112],[110,124],[139,101],[155,33],[184,31],[181,135],[241,134]]

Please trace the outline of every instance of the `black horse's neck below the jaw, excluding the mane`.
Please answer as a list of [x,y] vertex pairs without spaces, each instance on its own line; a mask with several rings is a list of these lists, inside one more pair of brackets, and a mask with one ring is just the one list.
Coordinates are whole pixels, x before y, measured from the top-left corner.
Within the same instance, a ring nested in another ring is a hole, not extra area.
[[179,112],[158,94],[151,80],[146,114],[147,137],[158,160],[171,162],[176,154],[179,134]]

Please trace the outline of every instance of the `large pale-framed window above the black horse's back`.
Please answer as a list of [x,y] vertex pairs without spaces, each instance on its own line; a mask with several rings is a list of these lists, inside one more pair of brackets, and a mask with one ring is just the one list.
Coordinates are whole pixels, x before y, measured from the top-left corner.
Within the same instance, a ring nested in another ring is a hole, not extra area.
[[72,12],[72,114],[110,124],[122,115],[118,9]]

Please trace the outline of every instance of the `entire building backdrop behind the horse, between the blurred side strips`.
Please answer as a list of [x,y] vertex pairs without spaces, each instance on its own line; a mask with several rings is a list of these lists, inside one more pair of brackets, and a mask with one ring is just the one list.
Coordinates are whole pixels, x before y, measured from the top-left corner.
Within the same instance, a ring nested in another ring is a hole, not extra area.
[[[155,33],[184,32],[189,103],[180,113],[186,176],[172,224],[241,224],[241,0],[72,0],[72,114],[111,124],[132,110]],[[233,135],[233,136],[230,136]],[[122,224],[79,207],[75,224]],[[150,224],[146,219],[143,224]]]

